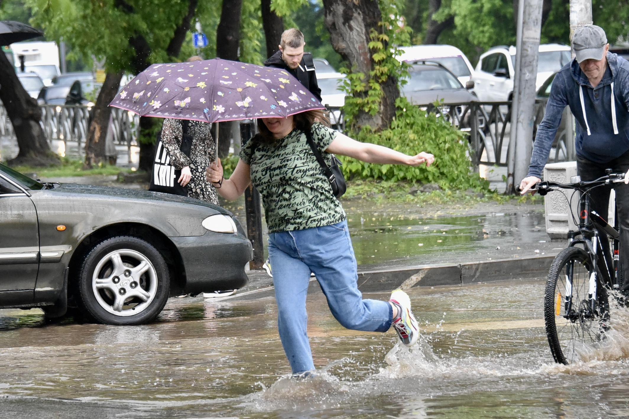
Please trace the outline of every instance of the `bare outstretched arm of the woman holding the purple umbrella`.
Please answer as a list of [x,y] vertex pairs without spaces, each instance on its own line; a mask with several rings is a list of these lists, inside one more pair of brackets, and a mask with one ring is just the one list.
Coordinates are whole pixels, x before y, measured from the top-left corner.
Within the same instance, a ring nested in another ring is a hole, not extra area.
[[384,146],[361,143],[341,133],[335,136],[325,151],[380,165],[419,166],[421,163],[426,163],[426,166],[430,166],[435,161],[435,156],[424,151],[415,156],[408,156]]

